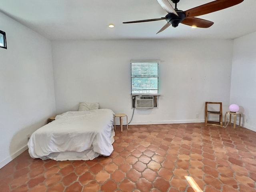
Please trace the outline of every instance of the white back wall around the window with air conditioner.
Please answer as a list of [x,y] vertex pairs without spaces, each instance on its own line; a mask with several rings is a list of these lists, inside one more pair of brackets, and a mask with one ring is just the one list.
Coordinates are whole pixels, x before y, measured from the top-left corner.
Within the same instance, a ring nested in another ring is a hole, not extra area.
[[130,60],[161,61],[159,108],[135,109],[131,124],[204,122],[205,101],[229,106],[232,40],[54,41],[52,49],[59,114],[99,102],[130,120]]

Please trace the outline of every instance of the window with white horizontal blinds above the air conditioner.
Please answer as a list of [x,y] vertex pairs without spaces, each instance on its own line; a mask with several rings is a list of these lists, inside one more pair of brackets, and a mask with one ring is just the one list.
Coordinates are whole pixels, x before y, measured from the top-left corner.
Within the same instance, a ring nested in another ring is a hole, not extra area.
[[131,94],[158,94],[159,61],[131,62]]

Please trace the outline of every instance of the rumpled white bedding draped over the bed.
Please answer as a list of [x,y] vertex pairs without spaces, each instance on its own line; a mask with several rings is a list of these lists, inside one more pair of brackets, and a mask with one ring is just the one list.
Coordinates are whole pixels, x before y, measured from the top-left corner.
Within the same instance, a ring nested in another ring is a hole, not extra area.
[[28,141],[32,158],[92,160],[113,151],[114,112],[110,109],[72,111],[36,130]]

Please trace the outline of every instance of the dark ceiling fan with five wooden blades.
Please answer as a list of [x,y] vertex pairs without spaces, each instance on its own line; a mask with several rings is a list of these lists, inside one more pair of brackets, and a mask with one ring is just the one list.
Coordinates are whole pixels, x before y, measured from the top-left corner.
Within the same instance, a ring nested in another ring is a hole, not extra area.
[[206,3],[186,11],[178,10],[177,3],[180,0],[171,0],[175,4],[175,8],[172,7],[172,5],[170,4],[170,2],[168,2],[168,0],[157,0],[157,1],[160,4],[160,6],[164,10],[166,10],[166,12],[168,13],[165,17],[156,18],[156,19],[138,20],[138,21],[128,21],[123,23],[140,23],[140,22],[166,20],[167,24],[165,24],[156,34],[162,32],[163,30],[165,30],[171,25],[173,27],[177,27],[178,24],[180,23],[189,25],[192,27],[208,28],[212,26],[214,22],[196,18],[196,16],[222,10],[222,9],[234,6],[236,4],[239,4],[244,0],[215,0],[210,3]]

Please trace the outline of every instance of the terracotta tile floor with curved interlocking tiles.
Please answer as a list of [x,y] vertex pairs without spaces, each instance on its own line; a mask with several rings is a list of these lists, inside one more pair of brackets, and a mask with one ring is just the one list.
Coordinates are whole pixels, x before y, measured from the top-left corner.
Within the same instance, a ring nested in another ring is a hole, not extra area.
[[256,192],[256,132],[203,123],[116,129],[110,157],[32,159],[28,151],[0,169],[1,192]]

